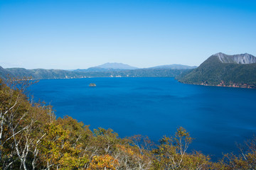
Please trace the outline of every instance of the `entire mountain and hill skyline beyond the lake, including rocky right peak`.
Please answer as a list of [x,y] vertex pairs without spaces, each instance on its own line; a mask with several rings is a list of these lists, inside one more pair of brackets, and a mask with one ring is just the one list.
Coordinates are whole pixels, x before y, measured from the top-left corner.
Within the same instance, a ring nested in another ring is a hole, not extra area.
[[105,63],[88,69],[22,69],[0,67],[0,77],[74,79],[90,77],[175,77],[185,84],[256,88],[256,57],[250,54],[208,57],[199,67],[181,64],[139,69],[122,63]]

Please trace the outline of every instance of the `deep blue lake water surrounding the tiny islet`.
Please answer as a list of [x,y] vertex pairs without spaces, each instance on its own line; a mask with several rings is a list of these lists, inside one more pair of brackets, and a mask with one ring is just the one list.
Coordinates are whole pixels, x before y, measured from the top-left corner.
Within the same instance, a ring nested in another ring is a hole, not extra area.
[[[90,83],[97,87],[89,87]],[[172,78],[41,80],[31,94],[91,129],[112,128],[120,137],[158,141],[182,126],[195,138],[190,149],[212,155],[238,152],[256,133],[256,89],[197,86]]]

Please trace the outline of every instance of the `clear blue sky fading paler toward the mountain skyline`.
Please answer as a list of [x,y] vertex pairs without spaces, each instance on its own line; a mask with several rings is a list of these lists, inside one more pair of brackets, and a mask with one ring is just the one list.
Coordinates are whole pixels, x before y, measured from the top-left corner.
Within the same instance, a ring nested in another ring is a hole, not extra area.
[[0,66],[199,65],[256,55],[255,0],[0,0]]

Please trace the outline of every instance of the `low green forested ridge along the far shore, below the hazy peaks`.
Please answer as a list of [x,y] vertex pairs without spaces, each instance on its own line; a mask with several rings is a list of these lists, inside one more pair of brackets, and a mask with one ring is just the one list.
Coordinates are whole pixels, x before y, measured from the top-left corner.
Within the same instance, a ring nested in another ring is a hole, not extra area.
[[187,69],[132,69],[104,72],[70,72],[61,69],[3,69],[0,78],[31,77],[32,79],[70,79],[82,77],[176,77]]

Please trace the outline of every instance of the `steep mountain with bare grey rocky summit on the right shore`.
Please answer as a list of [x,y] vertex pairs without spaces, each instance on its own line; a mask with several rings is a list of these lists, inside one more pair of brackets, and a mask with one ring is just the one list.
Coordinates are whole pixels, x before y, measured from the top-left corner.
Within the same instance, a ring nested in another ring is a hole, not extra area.
[[256,57],[247,53],[210,56],[198,68],[178,76],[187,84],[256,88]]

